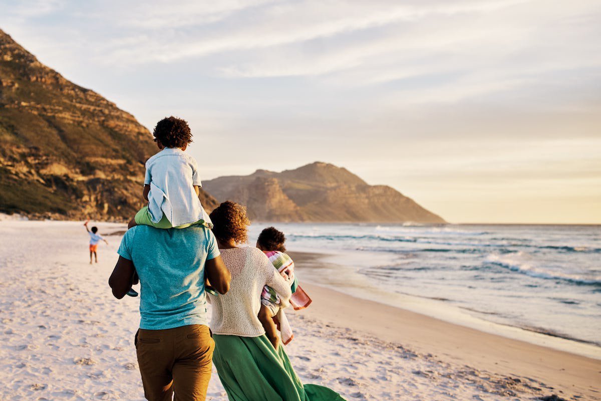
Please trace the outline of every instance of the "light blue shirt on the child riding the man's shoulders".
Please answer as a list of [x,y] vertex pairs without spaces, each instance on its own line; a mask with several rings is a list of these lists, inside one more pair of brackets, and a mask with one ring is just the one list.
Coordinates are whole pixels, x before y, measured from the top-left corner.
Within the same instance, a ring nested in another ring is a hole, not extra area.
[[182,149],[164,148],[148,159],[144,184],[150,185],[148,212],[153,222],[163,214],[173,227],[200,219],[211,222],[194,191],[194,185],[201,186],[197,162]]

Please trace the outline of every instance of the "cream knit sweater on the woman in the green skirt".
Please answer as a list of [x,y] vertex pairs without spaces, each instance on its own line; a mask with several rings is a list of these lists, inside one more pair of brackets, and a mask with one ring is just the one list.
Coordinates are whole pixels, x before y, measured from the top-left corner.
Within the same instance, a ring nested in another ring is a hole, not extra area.
[[213,307],[210,328],[214,334],[258,337],[265,334],[257,317],[261,307],[263,286],[272,287],[289,305],[290,283],[273,268],[267,256],[258,248],[219,249],[225,266],[231,273],[230,290],[224,295],[211,295]]

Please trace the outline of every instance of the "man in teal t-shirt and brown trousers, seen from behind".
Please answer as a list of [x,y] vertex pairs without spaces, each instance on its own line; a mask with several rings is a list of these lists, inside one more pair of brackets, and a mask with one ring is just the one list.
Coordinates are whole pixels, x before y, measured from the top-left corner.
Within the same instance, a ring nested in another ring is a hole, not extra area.
[[207,321],[205,282],[224,294],[230,288],[215,236],[203,225],[127,230],[109,278],[117,299],[140,281],[140,326],[136,354],[150,401],[204,400],[215,343]]

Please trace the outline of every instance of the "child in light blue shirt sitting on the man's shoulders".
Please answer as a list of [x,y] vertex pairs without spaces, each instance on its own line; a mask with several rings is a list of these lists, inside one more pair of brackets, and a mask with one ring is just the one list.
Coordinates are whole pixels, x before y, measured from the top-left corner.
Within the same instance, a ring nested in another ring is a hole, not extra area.
[[129,228],[140,224],[156,228],[203,224],[211,228],[209,215],[198,198],[198,164],[184,153],[192,142],[188,123],[182,118],[163,118],[154,127],[153,135],[160,152],[146,162],[143,195],[148,204],[136,213]]

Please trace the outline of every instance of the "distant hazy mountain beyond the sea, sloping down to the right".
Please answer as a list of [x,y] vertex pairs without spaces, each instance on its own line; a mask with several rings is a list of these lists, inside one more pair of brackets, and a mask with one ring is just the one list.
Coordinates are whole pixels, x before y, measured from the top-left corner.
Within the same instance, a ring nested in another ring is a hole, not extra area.
[[346,168],[322,162],[219,177],[203,188],[220,202],[245,204],[249,217],[262,221],[445,222],[389,186],[368,185]]

